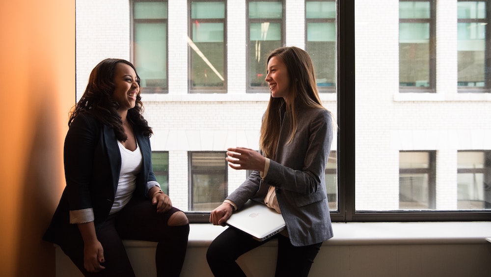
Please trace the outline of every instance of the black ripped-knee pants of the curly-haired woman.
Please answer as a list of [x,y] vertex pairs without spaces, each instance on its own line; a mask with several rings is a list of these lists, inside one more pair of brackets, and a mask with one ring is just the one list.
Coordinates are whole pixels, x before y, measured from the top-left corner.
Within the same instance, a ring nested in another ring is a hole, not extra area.
[[121,240],[142,240],[158,242],[155,263],[148,261],[148,267],[157,267],[157,276],[178,277],[181,273],[188,245],[189,224],[168,226],[169,217],[179,211],[159,214],[150,199],[132,199],[120,212],[110,215],[97,231],[97,239],[104,249],[106,269],[89,273],[83,267],[83,242],[75,251],[65,253],[72,259],[84,276],[90,277],[134,277],[135,273]]

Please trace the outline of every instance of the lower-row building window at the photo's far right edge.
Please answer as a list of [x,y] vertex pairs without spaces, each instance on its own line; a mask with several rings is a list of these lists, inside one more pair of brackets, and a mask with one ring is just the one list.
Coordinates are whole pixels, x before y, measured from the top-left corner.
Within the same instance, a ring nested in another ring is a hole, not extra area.
[[457,156],[458,208],[491,208],[491,151],[459,151]]

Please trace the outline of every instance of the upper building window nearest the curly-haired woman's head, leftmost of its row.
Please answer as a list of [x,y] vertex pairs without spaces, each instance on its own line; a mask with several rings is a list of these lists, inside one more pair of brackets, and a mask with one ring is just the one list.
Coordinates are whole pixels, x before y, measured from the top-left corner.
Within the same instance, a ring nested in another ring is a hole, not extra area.
[[166,92],[167,2],[133,2],[133,60],[142,92]]

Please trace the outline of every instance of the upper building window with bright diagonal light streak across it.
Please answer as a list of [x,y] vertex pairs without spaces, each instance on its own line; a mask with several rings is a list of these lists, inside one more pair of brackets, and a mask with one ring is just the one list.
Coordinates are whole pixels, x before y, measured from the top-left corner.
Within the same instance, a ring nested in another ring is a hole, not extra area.
[[191,92],[225,92],[225,2],[190,3]]

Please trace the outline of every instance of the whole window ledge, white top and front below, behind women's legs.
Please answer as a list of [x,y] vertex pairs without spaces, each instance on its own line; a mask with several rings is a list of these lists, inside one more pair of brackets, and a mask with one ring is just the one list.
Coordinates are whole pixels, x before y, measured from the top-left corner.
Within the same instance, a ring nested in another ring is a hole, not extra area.
[[[183,277],[212,277],[206,263],[210,242],[227,227],[191,224]],[[333,223],[334,237],[324,242],[310,277],[473,276],[491,273],[491,222]],[[125,241],[137,277],[155,276],[156,243]],[[247,276],[274,276],[276,240],[238,260]],[[82,277],[56,247],[56,276]]]

